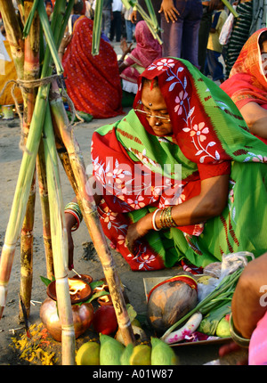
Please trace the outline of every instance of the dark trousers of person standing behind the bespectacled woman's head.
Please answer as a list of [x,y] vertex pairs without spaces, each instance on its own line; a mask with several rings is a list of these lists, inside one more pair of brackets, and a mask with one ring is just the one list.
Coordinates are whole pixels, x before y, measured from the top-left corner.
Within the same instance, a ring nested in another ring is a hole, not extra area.
[[173,56],[190,61],[198,68],[198,29],[202,17],[201,0],[174,0],[180,13],[175,22],[166,22],[161,13],[163,56]]

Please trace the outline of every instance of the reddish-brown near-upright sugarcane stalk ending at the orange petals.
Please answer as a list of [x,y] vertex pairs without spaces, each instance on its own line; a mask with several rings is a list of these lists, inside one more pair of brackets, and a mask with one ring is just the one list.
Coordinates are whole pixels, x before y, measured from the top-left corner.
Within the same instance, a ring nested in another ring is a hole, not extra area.
[[[33,0],[24,2],[24,14],[28,17],[33,7]],[[24,80],[39,77],[39,20],[33,14],[32,28],[25,39],[24,52]],[[24,97],[23,134],[24,145],[27,143],[28,129],[33,115],[36,100],[36,89],[28,88]],[[31,184],[26,214],[20,233],[20,297],[24,303],[27,316],[30,314],[30,300],[33,279],[33,226],[36,201],[36,176],[34,174]],[[23,310],[20,306],[20,320],[24,320]]]

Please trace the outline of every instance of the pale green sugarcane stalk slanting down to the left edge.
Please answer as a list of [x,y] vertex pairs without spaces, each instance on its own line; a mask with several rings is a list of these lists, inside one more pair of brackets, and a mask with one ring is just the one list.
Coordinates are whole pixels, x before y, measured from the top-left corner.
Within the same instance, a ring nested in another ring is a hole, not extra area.
[[[4,2],[4,0],[0,0],[0,11],[3,14],[3,19],[7,20],[8,22],[8,29],[10,31],[10,36],[12,37],[11,26],[12,22],[16,20],[16,17],[14,16],[13,7],[6,6],[7,4],[10,5],[10,3],[11,2]],[[11,17],[12,12],[14,20],[12,20]],[[14,24],[16,23],[14,22]],[[14,34],[15,42],[17,42],[18,40],[20,41],[20,37],[22,37],[21,34],[21,30],[20,34],[19,31],[17,31],[17,33]],[[17,40],[15,37],[18,37]],[[20,45],[17,44],[17,47],[19,49]],[[41,78],[50,76],[52,74],[52,68],[50,66],[51,58],[51,52],[49,48],[46,47]],[[10,280],[10,275],[12,271],[12,262],[15,253],[15,246],[19,238],[23,219],[26,213],[28,195],[33,180],[33,174],[35,171],[36,154],[38,151],[42,129],[44,125],[44,114],[46,110],[49,89],[50,83],[45,83],[44,85],[38,87],[35,109],[28,132],[28,140],[25,151],[23,152],[20,165],[20,173],[18,176],[18,182],[16,185],[14,198],[12,202],[11,214],[5,232],[4,246],[0,258],[0,319],[4,311],[5,301],[7,297],[7,285],[8,281]]]

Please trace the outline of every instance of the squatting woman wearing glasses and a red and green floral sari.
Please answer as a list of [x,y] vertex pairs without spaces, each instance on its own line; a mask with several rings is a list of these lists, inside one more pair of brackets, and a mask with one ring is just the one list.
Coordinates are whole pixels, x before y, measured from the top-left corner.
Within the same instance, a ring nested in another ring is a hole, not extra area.
[[267,146],[190,62],[142,73],[134,110],[93,133],[92,161],[103,230],[132,270],[266,251]]

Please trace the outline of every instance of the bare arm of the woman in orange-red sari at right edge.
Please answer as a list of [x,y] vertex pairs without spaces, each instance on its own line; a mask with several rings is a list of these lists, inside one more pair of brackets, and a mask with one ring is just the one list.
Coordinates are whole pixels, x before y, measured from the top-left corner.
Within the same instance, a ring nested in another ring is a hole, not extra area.
[[267,110],[256,102],[247,102],[240,113],[252,134],[267,138]]

